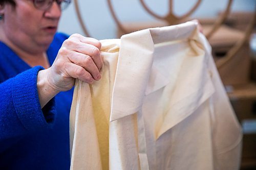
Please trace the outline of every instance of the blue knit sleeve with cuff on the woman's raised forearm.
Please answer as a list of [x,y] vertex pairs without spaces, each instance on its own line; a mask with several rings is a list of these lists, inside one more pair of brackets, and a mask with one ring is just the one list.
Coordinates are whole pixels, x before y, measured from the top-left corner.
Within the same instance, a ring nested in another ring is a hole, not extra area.
[[37,73],[33,67],[0,84],[0,141],[51,128],[55,102],[52,99],[41,109],[37,93]]

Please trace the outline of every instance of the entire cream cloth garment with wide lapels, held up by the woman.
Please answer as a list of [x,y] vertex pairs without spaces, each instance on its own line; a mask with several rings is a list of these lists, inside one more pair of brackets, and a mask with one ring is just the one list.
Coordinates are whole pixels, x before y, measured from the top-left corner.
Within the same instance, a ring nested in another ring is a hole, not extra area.
[[71,169],[239,169],[241,127],[194,22],[103,40],[76,81]]

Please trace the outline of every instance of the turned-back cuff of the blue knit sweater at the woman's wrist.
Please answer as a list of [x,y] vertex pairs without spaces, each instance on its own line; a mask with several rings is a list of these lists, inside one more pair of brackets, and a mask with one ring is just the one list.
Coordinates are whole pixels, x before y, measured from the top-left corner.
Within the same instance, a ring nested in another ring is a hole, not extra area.
[[17,75],[12,84],[12,99],[17,116],[23,126],[34,131],[42,128],[51,128],[55,115],[55,102],[52,99],[41,109],[37,92],[37,74],[44,69],[41,66],[33,67]]

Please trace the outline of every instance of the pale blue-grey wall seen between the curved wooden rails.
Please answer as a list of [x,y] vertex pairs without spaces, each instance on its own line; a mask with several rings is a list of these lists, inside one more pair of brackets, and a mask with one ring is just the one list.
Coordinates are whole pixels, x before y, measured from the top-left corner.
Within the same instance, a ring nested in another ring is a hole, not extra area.
[[[145,2],[148,7],[159,15],[164,15],[168,11],[168,0],[146,0]],[[182,15],[196,2],[196,0],[174,1],[174,12],[177,15]],[[227,0],[203,0],[199,8],[192,14],[192,17],[216,17],[219,12],[226,8],[227,3]],[[84,23],[88,26],[92,37],[97,39],[116,38],[117,27],[106,0],[79,0],[78,4]],[[112,0],[112,4],[119,19],[123,22],[156,20],[142,8],[138,0]],[[252,12],[255,8],[255,0],[235,0],[231,8],[232,11]],[[84,35],[75,12],[74,1],[72,1],[68,9],[63,11],[59,23],[59,31],[67,34],[79,33]]]

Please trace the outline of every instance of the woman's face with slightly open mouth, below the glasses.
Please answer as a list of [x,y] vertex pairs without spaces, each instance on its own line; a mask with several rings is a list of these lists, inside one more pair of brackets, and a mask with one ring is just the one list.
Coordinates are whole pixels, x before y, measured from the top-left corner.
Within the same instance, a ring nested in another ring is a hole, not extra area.
[[[16,7],[5,4],[2,30],[8,41],[33,53],[47,50],[56,33],[61,10],[54,1],[48,10],[36,9],[32,0],[16,0]],[[33,48],[33,49],[32,49]]]

